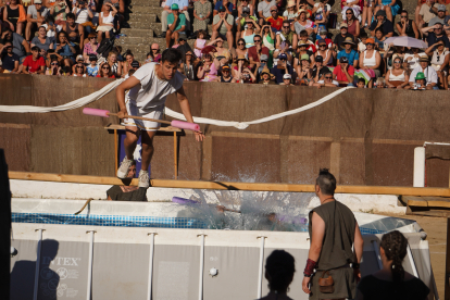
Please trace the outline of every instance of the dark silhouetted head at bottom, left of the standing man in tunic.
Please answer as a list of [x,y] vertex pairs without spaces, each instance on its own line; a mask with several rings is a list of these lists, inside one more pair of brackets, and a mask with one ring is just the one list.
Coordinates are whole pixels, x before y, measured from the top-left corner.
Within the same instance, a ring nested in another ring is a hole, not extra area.
[[296,272],[296,261],[285,250],[274,250],[265,261],[268,293],[260,300],[292,300],[287,296]]

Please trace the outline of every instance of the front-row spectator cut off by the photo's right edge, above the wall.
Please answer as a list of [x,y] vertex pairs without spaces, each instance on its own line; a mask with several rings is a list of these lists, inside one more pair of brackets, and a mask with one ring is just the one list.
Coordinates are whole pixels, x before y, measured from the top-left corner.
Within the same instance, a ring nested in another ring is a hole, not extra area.
[[[436,50],[433,50],[436,49]],[[430,45],[426,50],[425,53],[428,57],[432,57],[432,67],[436,71],[437,76],[439,78],[440,86],[447,90],[448,83],[447,83],[447,75],[449,70],[449,50],[446,49],[446,45],[443,40],[440,38],[437,40],[436,43]]]

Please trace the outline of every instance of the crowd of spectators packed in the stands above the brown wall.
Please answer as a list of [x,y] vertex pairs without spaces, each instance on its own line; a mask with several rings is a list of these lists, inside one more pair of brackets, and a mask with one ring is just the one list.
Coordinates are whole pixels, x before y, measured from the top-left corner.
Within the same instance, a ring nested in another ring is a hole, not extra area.
[[[161,58],[158,43],[142,62],[118,46],[99,51],[120,33],[124,0],[1,1],[0,72],[120,78]],[[414,16],[399,0],[341,0],[340,24],[329,2],[166,0],[160,37],[182,52],[186,80],[448,88],[449,0],[417,0]]]

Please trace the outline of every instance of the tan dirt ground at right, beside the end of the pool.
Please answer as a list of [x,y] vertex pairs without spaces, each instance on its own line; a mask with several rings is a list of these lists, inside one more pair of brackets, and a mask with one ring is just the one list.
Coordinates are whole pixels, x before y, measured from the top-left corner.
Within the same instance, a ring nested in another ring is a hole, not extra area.
[[446,275],[446,243],[447,243],[447,218],[418,215],[402,215],[403,218],[415,220],[427,233],[429,253],[432,255],[432,267],[435,274],[439,299],[443,299],[445,275]]

